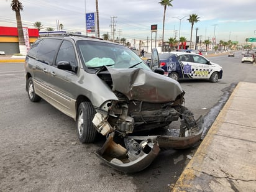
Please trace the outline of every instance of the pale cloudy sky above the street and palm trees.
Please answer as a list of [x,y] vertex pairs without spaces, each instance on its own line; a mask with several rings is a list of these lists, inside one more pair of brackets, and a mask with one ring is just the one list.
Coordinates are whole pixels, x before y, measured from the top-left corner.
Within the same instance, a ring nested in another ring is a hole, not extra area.
[[[58,21],[63,24],[63,30],[86,34],[85,13],[96,12],[94,0],[19,1],[24,6],[21,11],[23,27],[29,28],[34,28],[34,22],[40,21],[45,29],[52,27],[57,30]],[[147,40],[151,36],[154,39],[155,35],[157,39],[162,39],[163,6],[158,2],[160,0],[98,0],[101,37],[107,33],[111,36],[111,24],[114,24],[115,39]],[[188,16],[191,14],[199,17],[193,26],[193,40],[196,29],[202,41],[212,41],[215,36],[217,42],[231,40],[245,43],[246,38],[256,37],[255,0],[173,0],[171,4],[165,15],[166,41],[170,37],[178,39],[179,35],[190,40]],[[153,24],[157,24],[157,34],[152,34],[150,30]],[[11,0],[0,0],[0,26],[16,27]]]

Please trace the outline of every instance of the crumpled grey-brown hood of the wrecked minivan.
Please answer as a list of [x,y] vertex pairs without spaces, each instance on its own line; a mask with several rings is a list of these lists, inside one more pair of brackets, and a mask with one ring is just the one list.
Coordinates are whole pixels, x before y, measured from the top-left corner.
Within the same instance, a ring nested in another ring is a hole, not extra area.
[[153,71],[139,68],[110,68],[114,90],[119,91],[129,99],[145,102],[165,103],[175,101],[183,93],[178,81]]

